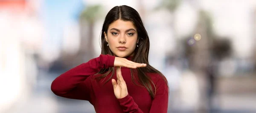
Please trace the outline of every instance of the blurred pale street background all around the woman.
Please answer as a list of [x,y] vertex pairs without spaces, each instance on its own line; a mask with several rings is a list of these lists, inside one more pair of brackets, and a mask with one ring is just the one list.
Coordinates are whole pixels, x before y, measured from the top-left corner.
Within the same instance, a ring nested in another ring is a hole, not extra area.
[[50,85],[99,56],[120,5],[143,19],[168,113],[256,113],[256,0],[0,0],[0,113],[95,113]]

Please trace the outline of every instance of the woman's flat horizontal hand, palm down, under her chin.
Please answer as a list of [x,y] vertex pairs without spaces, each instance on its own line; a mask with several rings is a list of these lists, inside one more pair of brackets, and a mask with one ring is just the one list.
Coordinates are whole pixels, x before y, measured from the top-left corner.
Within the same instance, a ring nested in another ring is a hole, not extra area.
[[145,66],[147,66],[147,64],[145,64],[145,63],[135,63],[133,61],[127,60],[126,58],[116,57],[115,61],[114,61],[114,66],[128,67],[128,68],[136,69],[137,67],[145,67]]

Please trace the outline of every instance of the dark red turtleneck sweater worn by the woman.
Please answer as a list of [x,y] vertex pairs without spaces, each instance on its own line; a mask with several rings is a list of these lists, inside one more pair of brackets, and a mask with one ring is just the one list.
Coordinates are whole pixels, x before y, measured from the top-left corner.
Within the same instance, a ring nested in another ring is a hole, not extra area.
[[[58,96],[89,101],[96,113],[167,113],[168,86],[158,74],[147,73],[156,86],[154,99],[151,99],[146,88],[132,82],[131,71],[126,67],[121,67],[121,72],[128,88],[128,95],[122,99],[116,99],[111,80],[106,84],[104,78],[100,81],[94,80],[100,75],[93,74],[102,68],[113,67],[114,60],[114,56],[100,55],[87,63],[82,63],[58,76],[52,82],[51,90]],[[105,80],[110,76],[111,73]],[[134,76],[138,78],[136,72]],[[116,80],[116,71],[113,79]]]

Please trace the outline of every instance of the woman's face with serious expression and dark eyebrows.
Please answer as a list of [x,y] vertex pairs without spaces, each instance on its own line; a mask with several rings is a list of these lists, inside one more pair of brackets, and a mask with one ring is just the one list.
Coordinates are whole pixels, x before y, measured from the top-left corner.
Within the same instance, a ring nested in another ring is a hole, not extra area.
[[117,57],[133,56],[136,48],[138,34],[137,29],[131,21],[118,19],[108,27],[105,39],[108,47]]

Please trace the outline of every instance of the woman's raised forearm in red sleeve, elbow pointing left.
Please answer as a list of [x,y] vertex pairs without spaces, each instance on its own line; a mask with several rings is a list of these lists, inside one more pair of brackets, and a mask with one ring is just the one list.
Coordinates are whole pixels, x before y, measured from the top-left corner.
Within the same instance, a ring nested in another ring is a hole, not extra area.
[[96,74],[102,68],[113,66],[114,56],[100,55],[87,63],[82,63],[73,69],[61,74],[51,85],[52,92],[56,95],[67,94],[69,91],[87,79],[90,75]]

